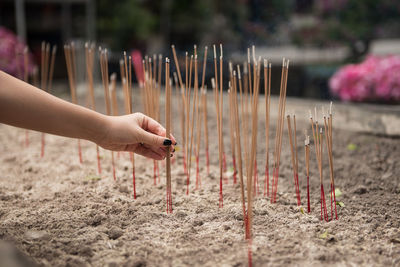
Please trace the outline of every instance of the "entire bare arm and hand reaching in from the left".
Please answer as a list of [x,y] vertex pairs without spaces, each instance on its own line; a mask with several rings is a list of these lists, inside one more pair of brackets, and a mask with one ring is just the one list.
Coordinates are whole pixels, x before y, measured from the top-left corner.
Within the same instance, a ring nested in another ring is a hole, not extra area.
[[[86,139],[114,151],[165,159],[166,131],[155,120],[134,113],[106,116],[74,105],[0,71],[0,123]],[[171,151],[176,140],[171,136]],[[171,154],[172,156],[172,154]]]

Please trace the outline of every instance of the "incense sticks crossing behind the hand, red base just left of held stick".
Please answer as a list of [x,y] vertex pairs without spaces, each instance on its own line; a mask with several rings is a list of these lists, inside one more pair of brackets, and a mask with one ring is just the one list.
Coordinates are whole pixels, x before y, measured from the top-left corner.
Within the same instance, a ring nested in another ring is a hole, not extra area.
[[[129,59],[129,60],[128,60]],[[124,52],[124,59],[119,61],[120,74],[122,80],[122,89],[124,92],[124,107],[125,113],[132,113],[132,58],[129,56],[127,59],[126,52]],[[129,152],[132,162],[132,185],[133,185],[133,198],[136,199],[136,175],[135,175],[135,154]]]

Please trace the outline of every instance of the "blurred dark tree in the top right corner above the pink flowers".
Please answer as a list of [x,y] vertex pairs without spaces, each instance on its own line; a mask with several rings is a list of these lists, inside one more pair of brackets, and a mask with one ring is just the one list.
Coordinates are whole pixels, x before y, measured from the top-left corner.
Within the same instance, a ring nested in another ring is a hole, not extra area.
[[[295,27],[293,41],[300,45],[346,45],[350,61],[360,61],[368,53],[370,43],[385,34],[389,25],[399,25],[400,2],[392,0],[323,0],[312,11],[314,23]],[[399,27],[394,36],[400,34]],[[383,33],[383,34],[382,34]]]

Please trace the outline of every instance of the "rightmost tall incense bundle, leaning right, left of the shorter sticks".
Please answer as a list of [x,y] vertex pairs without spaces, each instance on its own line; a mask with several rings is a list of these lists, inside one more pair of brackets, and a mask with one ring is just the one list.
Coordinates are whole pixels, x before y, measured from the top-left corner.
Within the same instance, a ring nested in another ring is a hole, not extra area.
[[275,151],[274,151],[274,167],[272,176],[271,203],[276,202],[276,195],[278,191],[279,165],[280,165],[281,150],[282,150],[282,134],[283,134],[283,127],[285,125],[284,117],[285,117],[285,106],[286,106],[286,88],[287,88],[288,71],[289,71],[289,60],[283,59],[279,106],[278,106],[278,122],[275,134]]

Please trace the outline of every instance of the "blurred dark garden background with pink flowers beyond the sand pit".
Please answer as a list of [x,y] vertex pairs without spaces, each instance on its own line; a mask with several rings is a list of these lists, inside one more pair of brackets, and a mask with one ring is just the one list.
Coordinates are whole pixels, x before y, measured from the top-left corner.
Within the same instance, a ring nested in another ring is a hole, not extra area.
[[[59,48],[55,83],[67,82],[62,47],[69,41],[81,47],[85,41],[107,47],[110,72],[118,72],[124,50],[171,57],[175,44],[182,57],[193,51],[194,44],[202,51],[206,45],[222,43],[225,60],[234,64],[247,60],[247,48],[255,45],[257,56],[274,66],[275,94],[286,57],[291,60],[290,96],[400,101],[400,1],[0,1],[0,69],[18,76],[14,61],[21,58],[25,44],[32,53],[31,63],[39,64],[42,41]],[[78,73],[84,80],[80,55]],[[211,75],[210,64],[207,76]]]

